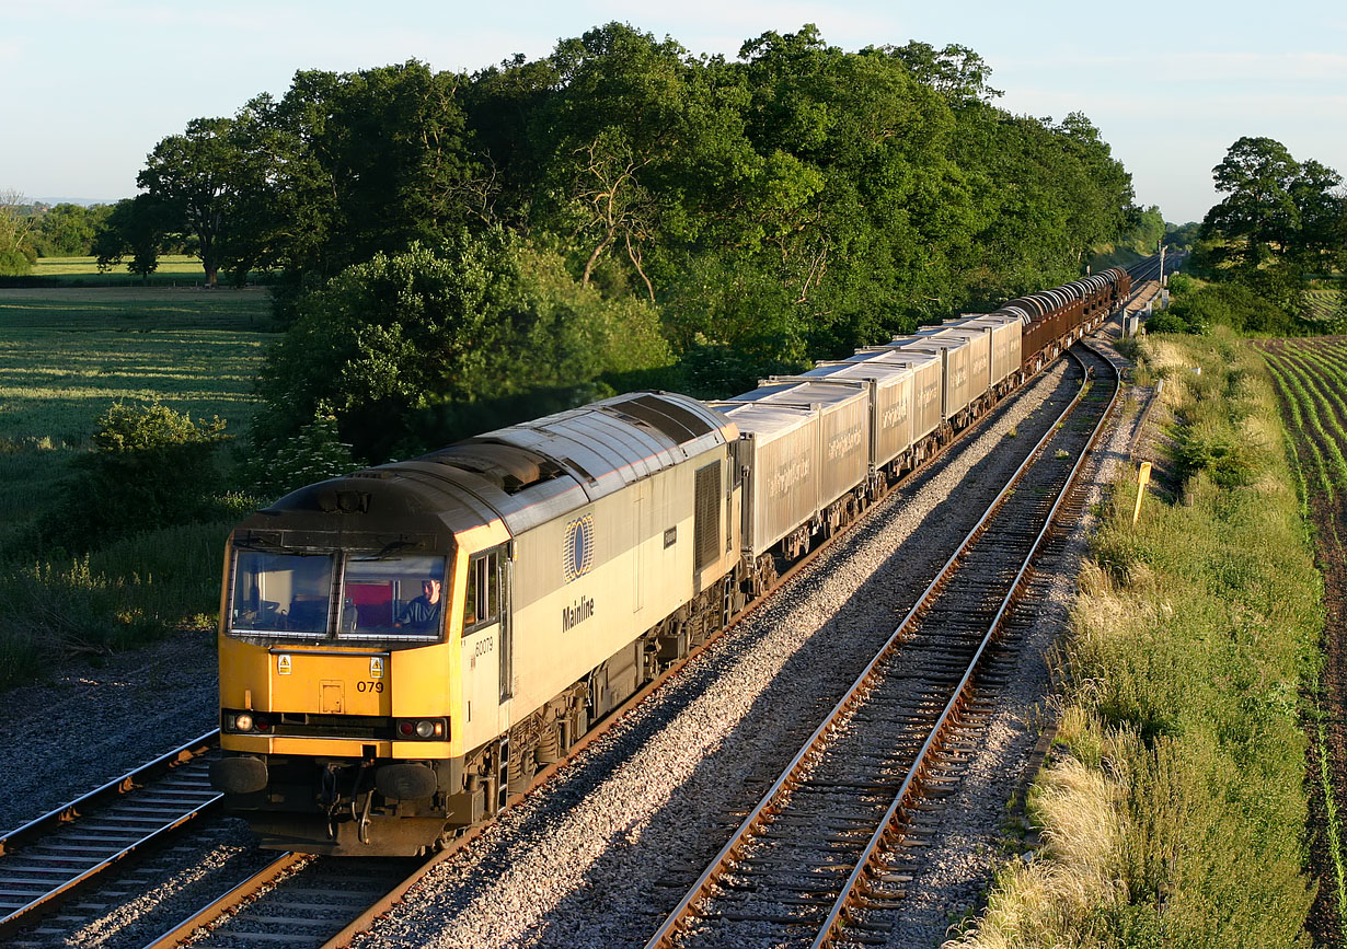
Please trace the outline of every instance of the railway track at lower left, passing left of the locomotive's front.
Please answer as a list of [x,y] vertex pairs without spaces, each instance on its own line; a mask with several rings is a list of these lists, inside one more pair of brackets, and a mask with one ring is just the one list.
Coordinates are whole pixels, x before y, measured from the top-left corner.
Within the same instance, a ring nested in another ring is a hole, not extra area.
[[210,812],[218,747],[210,731],[0,837],[0,938]]

